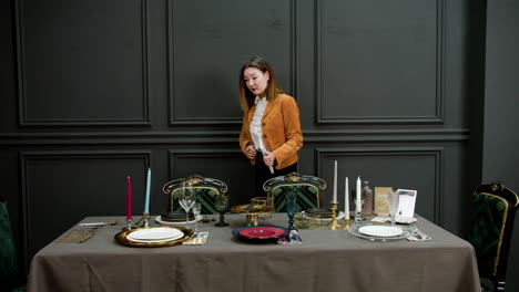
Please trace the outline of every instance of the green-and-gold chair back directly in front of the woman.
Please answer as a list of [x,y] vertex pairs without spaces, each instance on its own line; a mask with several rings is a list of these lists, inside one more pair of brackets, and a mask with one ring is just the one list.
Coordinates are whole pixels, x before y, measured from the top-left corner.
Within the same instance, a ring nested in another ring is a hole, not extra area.
[[286,211],[285,198],[289,191],[298,194],[297,212],[308,208],[319,208],[325,188],[326,182],[323,179],[297,173],[274,177],[263,184],[263,189],[267,192],[267,198],[274,200],[277,212]]

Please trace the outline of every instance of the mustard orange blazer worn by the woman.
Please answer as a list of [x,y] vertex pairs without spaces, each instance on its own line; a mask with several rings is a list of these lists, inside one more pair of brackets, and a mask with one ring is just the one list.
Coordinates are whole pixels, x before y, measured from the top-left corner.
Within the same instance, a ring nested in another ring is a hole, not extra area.
[[[240,147],[244,154],[247,144],[253,144],[251,122],[255,109],[256,106],[253,105],[243,116]],[[268,101],[262,118],[262,132],[265,148],[276,156],[274,168],[283,169],[297,163],[297,150],[303,147],[303,133],[299,109],[294,97],[278,94],[276,98]],[[251,164],[254,165],[255,160],[251,159]]]

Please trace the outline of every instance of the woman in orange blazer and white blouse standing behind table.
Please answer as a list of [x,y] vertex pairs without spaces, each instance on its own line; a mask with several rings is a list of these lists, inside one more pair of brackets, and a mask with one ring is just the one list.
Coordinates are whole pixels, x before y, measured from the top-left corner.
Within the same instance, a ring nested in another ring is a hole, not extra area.
[[240,147],[256,173],[256,197],[265,196],[265,180],[297,170],[303,146],[299,109],[277,85],[271,65],[253,56],[240,71],[243,125]]

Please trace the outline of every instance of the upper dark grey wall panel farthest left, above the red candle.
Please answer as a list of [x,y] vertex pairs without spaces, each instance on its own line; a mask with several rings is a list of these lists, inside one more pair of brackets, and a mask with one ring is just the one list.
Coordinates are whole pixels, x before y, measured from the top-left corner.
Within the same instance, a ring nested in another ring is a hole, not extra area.
[[147,124],[145,7],[19,0],[20,124]]

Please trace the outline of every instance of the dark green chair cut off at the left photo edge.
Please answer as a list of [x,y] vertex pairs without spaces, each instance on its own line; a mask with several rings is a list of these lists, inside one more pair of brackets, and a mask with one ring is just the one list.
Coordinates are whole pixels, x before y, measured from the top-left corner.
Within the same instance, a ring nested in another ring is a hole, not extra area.
[[[11,232],[7,201],[0,196],[0,286],[8,291],[26,291],[20,286],[17,252]],[[2,290],[4,291],[4,290]]]

